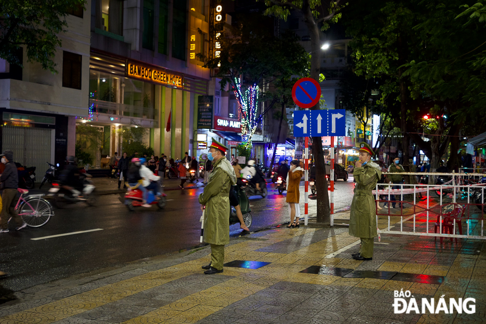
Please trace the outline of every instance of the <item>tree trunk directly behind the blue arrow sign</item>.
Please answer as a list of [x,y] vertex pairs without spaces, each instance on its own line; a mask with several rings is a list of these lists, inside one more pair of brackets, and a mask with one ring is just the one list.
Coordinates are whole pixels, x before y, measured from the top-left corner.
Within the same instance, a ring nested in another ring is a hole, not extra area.
[[[310,77],[319,82],[320,74],[320,62],[321,62],[321,49],[319,38],[319,26],[315,22],[310,9],[309,0],[303,0],[302,12],[304,14],[304,22],[310,33]],[[312,110],[318,110],[319,104],[317,103]],[[317,189],[317,223],[325,225],[331,224],[331,214],[329,205],[329,195],[327,194],[327,181],[326,181],[326,165],[324,162],[324,152],[322,150],[322,138],[312,137],[312,154],[314,157],[315,171],[316,171],[316,189]]]

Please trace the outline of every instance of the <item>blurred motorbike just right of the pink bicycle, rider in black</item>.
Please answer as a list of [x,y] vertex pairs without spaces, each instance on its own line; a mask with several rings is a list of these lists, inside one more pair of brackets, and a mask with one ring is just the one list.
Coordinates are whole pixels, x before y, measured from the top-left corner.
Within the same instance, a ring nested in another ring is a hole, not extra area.
[[[82,169],[83,171],[84,168]],[[91,180],[91,175],[82,173],[80,170],[80,180],[83,182],[83,190],[80,195],[73,193],[73,188],[59,182],[53,183],[53,188],[49,189],[48,196],[54,198],[58,208],[65,208],[68,204],[86,202],[90,206],[96,206],[98,199],[94,194],[95,186]]]

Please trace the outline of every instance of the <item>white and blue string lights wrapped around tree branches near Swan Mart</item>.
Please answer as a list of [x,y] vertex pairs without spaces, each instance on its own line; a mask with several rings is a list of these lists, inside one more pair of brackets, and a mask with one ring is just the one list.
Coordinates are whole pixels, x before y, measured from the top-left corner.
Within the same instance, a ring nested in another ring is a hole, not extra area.
[[257,114],[258,108],[258,90],[257,84],[248,86],[246,91],[242,91],[240,78],[235,78],[235,96],[238,99],[238,118],[241,121],[242,142],[245,147],[251,146],[251,138],[256,131],[258,123],[262,120]]

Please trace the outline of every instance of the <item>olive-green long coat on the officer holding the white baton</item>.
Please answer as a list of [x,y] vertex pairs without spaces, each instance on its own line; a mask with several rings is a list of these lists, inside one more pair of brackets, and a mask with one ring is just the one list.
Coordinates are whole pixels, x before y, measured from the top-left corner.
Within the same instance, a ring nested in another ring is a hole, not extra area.
[[236,184],[235,170],[226,158],[213,164],[213,172],[199,203],[206,205],[203,241],[209,244],[230,243],[230,187]]

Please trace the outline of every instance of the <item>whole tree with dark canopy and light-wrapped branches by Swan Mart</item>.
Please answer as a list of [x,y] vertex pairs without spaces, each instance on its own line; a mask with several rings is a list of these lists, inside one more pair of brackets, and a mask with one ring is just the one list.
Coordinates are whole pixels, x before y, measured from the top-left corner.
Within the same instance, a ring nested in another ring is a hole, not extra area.
[[[278,101],[276,97],[269,97],[269,104],[261,110],[261,89],[268,87],[283,71],[287,73],[296,62],[306,64],[308,57],[295,37],[273,35],[273,22],[269,17],[241,15],[236,21],[236,26],[218,37],[219,57],[208,59],[205,66],[221,78],[222,89],[229,85],[229,91],[234,92],[239,104],[243,144],[250,147],[253,134],[262,125],[263,115]],[[284,52],[286,47],[300,47],[302,51]],[[300,71],[292,70],[292,74],[300,74]]]

